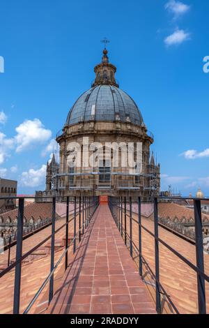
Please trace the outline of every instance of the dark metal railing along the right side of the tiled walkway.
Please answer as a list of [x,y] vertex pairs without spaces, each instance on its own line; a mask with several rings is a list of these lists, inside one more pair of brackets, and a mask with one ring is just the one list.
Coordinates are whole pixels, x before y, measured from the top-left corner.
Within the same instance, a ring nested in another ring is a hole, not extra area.
[[[172,246],[163,241],[159,235],[159,216],[158,216],[158,206],[159,201],[171,199],[168,197],[155,197],[154,198],[154,232],[150,231],[146,228],[141,222],[141,198],[138,197],[137,205],[138,205],[138,220],[133,217],[132,212],[132,197],[128,199],[126,197],[109,197],[109,208],[111,210],[111,214],[116,222],[118,230],[121,232],[121,236],[124,238],[125,245],[127,246],[127,239],[129,240],[129,249],[130,255],[133,258],[133,249],[137,251],[139,255],[139,275],[143,278],[143,264],[146,269],[150,272],[150,276],[155,281],[155,303],[156,303],[156,311],[157,313],[162,313],[162,302],[161,295],[166,297],[168,304],[173,308],[173,310],[178,314],[178,308],[173,304],[171,297],[168,295],[167,291],[164,289],[162,283],[160,282],[160,252],[159,246],[160,244],[166,247],[171,253],[176,255],[180,260],[185,262],[188,267],[196,272],[196,281],[197,281],[197,295],[198,295],[198,308],[199,314],[206,313],[206,286],[205,283],[209,283],[209,276],[205,274],[204,271],[204,256],[203,256],[203,232],[202,232],[202,213],[201,213],[201,200],[194,198],[194,226],[195,226],[195,247],[196,247],[196,265],[194,265],[190,260],[187,260],[185,256],[176,251]],[[175,197],[175,200],[186,200],[183,197]],[[129,209],[127,210],[127,204],[129,205]],[[129,227],[127,227],[127,218],[129,218]],[[137,223],[138,225],[138,245],[134,242],[132,236],[132,224]],[[127,233],[129,230],[129,234]],[[141,242],[141,232],[144,230],[148,232],[151,237],[155,240],[155,248],[153,252],[155,253],[155,272],[150,268],[148,261],[143,255],[142,252],[142,242]]]

